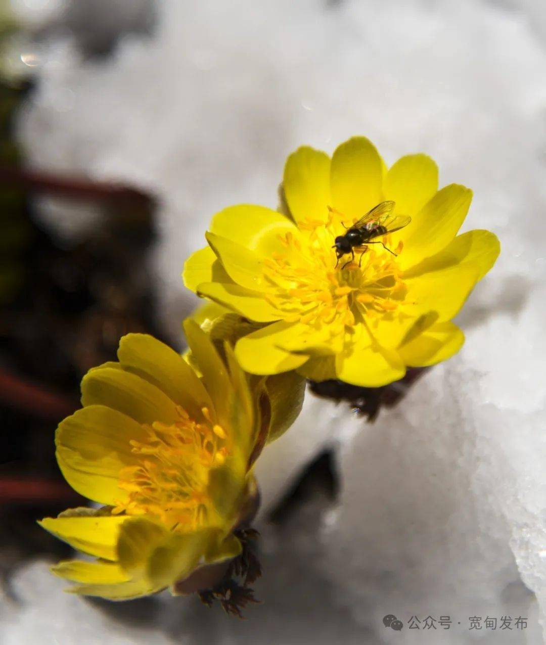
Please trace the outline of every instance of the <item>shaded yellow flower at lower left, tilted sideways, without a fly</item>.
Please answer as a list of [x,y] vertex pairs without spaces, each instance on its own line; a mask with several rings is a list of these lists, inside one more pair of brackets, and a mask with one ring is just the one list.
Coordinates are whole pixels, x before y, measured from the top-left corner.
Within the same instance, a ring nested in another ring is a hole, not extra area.
[[79,583],[69,591],[123,600],[173,590],[241,550],[233,531],[255,508],[252,466],[301,407],[301,388],[250,388],[228,344],[218,352],[194,321],[185,330],[199,372],[153,337],[126,335],[119,362],[85,375],[83,408],[59,424],[66,481],[105,505],[40,522],[96,557],[54,566]]

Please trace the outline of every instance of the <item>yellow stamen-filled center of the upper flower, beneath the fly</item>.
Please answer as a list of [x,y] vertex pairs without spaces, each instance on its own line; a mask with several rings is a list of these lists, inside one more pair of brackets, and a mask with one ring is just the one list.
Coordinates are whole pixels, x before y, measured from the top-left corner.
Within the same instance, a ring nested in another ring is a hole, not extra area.
[[[264,262],[270,286],[265,298],[285,313],[285,321],[326,323],[333,333],[343,333],[346,326],[396,311],[403,301],[406,288],[396,255],[381,244],[363,245],[354,251],[354,261],[349,253],[337,263],[332,244],[346,232],[343,219],[332,211],[326,224],[300,223],[305,237],[290,232],[279,236],[286,251]],[[381,240],[390,248],[388,235]],[[394,252],[401,249],[399,243]]]

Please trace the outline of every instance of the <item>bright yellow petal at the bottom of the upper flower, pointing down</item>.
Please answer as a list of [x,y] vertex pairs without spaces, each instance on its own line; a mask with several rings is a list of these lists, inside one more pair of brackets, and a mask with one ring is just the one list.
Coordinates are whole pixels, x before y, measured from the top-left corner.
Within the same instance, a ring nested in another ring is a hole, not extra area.
[[398,381],[405,371],[398,353],[372,343],[367,333],[359,335],[349,352],[336,356],[338,379],[365,388],[378,388]]

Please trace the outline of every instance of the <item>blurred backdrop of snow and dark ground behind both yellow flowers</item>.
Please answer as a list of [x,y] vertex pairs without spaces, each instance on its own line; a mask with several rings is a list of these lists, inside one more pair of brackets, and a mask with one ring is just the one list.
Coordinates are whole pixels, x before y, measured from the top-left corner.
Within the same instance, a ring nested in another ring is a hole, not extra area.
[[[247,620],[63,594],[35,520],[83,502],[53,444],[81,376],[127,332],[181,349],[211,215],[355,134],[430,154],[500,237],[465,347],[403,397],[309,393],[259,462]],[[543,0],[0,0],[0,642],[544,642],[545,171]]]

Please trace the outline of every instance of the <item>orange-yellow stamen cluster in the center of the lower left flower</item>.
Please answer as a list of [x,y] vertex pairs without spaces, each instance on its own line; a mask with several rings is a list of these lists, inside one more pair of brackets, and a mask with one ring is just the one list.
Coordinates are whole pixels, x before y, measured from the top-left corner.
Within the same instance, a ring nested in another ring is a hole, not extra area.
[[190,419],[183,408],[171,425],[155,421],[143,426],[145,441],[131,441],[139,463],[119,473],[119,488],[128,493],[112,512],[150,514],[171,528],[193,530],[207,523],[210,499],[207,494],[211,468],[226,458],[226,433],[210,422]]

